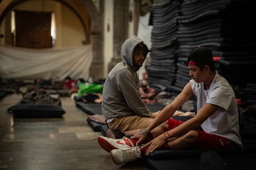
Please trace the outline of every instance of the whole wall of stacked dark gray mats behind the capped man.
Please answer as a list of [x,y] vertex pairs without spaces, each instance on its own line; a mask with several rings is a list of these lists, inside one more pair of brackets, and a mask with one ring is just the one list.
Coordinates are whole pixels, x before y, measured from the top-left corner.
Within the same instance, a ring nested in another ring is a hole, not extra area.
[[249,0],[157,1],[147,67],[150,87],[179,94],[190,79],[187,57],[198,46],[222,57],[216,62],[217,71],[232,85],[255,83],[256,26],[250,24],[255,4]]

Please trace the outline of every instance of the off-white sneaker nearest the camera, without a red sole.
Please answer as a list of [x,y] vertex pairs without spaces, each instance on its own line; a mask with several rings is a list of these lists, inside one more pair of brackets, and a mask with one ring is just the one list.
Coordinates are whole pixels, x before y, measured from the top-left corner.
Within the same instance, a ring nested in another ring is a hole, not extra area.
[[115,164],[124,164],[141,158],[139,147],[111,150],[111,158]]

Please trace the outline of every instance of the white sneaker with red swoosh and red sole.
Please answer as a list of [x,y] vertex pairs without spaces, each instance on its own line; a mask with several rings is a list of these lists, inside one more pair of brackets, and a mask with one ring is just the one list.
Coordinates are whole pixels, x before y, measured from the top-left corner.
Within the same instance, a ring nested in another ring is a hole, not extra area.
[[98,143],[100,146],[106,150],[106,152],[110,152],[113,149],[124,149],[134,147],[132,141],[127,137],[122,137],[122,139],[111,139],[108,137],[100,136],[98,137]]

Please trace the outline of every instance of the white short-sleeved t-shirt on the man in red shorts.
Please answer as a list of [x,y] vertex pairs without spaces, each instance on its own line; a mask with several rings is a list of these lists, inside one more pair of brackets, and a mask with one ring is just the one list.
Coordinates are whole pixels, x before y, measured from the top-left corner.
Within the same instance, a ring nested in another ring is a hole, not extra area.
[[228,81],[216,72],[215,78],[213,78],[210,88],[207,90],[203,89],[203,83],[196,83],[194,79],[190,80],[190,84],[197,97],[197,111],[205,103],[220,107],[202,123],[203,131],[223,136],[242,147],[236,96]]

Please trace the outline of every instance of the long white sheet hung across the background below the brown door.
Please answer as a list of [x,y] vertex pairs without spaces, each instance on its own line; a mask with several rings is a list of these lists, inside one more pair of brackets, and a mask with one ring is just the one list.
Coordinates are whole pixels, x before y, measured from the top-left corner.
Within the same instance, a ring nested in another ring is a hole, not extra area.
[[2,79],[88,79],[92,64],[92,46],[63,49],[27,49],[0,46]]

